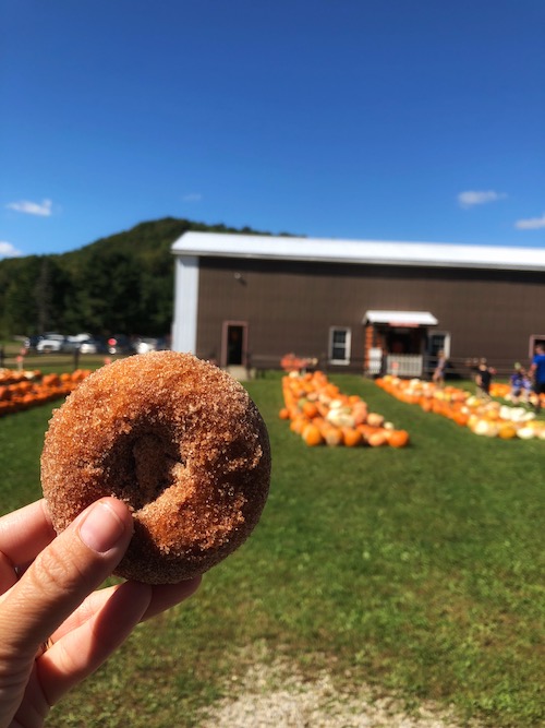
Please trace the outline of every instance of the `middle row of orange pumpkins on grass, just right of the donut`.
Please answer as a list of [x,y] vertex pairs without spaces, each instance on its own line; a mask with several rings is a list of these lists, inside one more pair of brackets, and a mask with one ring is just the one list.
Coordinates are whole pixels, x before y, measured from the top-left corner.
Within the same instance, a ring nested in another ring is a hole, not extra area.
[[347,395],[320,371],[291,371],[282,377],[280,418],[310,445],[404,447],[409,433],[368,411],[358,395]]

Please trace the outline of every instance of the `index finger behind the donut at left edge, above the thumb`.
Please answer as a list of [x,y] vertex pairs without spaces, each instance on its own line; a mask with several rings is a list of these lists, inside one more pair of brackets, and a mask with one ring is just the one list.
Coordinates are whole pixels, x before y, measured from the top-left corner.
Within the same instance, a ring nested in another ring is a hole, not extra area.
[[14,566],[33,561],[56,535],[45,499],[0,518],[0,551]]

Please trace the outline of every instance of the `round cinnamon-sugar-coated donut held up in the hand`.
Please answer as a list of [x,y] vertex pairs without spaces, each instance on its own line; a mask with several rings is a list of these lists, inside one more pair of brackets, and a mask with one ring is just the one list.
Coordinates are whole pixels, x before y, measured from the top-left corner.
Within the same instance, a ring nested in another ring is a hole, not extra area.
[[232,553],[268,494],[270,446],[246,390],[191,354],[108,363],[49,421],[41,487],[58,533],[106,496],[124,501],[134,535],[116,574],[175,584]]

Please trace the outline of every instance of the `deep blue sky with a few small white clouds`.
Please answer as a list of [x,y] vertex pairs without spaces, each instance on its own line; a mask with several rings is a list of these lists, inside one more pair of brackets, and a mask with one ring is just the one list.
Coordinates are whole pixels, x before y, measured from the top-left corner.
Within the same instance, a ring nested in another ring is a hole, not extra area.
[[164,216],[545,247],[543,0],[0,0],[0,256]]

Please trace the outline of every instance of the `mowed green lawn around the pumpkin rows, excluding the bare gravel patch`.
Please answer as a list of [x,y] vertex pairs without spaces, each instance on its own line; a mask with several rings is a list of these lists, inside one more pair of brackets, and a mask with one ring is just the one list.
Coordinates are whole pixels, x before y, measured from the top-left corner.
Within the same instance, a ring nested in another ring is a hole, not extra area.
[[[198,726],[254,659],[308,680],[453,705],[460,725],[543,725],[545,442],[480,438],[334,378],[411,445],[307,447],[278,418],[280,377],[247,387],[269,427],[269,501],[190,601],[141,625],[50,726]],[[53,405],[0,420],[2,511],[40,496]],[[258,716],[256,716],[256,720]]]

